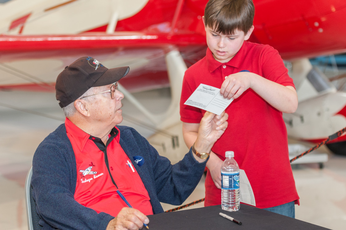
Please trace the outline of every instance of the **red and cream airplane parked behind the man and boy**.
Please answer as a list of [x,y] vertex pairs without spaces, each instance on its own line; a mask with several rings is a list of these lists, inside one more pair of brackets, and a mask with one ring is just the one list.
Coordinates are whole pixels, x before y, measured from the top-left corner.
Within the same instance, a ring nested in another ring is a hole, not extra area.
[[[129,65],[125,96],[157,127],[179,121],[184,71],[201,59],[207,0],[8,0],[0,3],[0,89],[54,91],[58,73],[80,56],[108,68]],[[346,93],[309,58],[346,52],[343,0],[254,0],[250,41],[269,44],[287,63],[299,96],[284,114],[291,138],[319,142],[346,126]],[[131,92],[171,87],[164,114],[152,114]],[[342,136],[328,147],[346,152]]]

